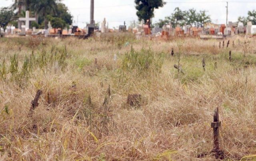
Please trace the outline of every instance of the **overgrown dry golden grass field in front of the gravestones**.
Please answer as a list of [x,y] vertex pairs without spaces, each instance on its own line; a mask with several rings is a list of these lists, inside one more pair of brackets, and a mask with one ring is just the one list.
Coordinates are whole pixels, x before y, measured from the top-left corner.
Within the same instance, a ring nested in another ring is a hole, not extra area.
[[216,107],[225,159],[256,159],[255,39],[219,41],[1,38],[0,160],[214,160]]

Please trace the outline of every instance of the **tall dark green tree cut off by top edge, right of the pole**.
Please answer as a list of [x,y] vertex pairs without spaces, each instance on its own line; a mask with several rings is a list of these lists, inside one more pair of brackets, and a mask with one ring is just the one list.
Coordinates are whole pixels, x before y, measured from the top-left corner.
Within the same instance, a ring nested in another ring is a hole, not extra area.
[[154,17],[154,9],[158,9],[159,7],[163,7],[166,4],[163,0],[134,0],[136,6],[136,15],[138,16],[139,20],[144,20],[146,24],[147,20],[148,25],[150,27],[151,18]]

